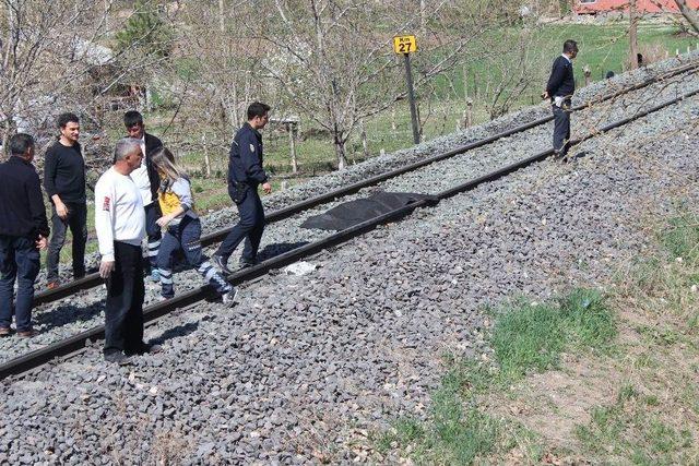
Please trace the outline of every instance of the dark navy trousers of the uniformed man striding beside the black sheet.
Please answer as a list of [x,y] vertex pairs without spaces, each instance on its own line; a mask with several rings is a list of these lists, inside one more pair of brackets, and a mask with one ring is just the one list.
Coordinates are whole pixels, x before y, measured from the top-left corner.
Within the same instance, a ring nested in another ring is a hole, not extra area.
[[249,189],[242,202],[236,204],[240,219],[218,247],[216,255],[227,259],[245,239],[242,261],[254,262],[264,231],[264,208],[257,190]]

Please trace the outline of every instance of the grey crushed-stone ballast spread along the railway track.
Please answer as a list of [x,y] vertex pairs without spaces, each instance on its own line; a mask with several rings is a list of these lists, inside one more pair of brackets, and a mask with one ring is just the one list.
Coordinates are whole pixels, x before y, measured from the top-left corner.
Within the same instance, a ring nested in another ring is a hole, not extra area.
[[[308,275],[248,284],[233,309],[164,318],[146,332],[164,351],[133,367],[106,365],[96,346],[3,381],[0,463],[364,459],[368,432],[425,411],[440,355],[488,356],[484,306],[605,286],[647,247],[645,215],[672,212],[680,189],[696,202],[698,126],[695,97],[587,141],[573,164],[543,162],[309,258]],[[505,146],[547,148],[549,132]],[[481,169],[448,167],[382,189],[434,192]],[[282,224],[266,244],[308,238]]]

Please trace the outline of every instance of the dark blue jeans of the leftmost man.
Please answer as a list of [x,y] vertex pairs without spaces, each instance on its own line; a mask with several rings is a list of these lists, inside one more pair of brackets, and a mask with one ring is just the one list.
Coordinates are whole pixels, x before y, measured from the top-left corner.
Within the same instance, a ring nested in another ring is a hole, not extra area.
[[0,327],[9,328],[12,323],[12,298],[16,279],[14,313],[17,332],[32,330],[34,280],[39,267],[39,251],[33,239],[0,235]]

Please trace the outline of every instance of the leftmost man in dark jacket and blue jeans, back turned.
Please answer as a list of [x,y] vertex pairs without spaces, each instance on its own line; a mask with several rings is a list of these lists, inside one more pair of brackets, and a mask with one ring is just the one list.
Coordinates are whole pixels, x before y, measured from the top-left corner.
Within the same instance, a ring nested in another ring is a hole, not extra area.
[[17,335],[31,337],[34,280],[39,273],[39,249],[49,234],[42,184],[32,160],[34,139],[10,139],[10,159],[0,164],[0,336],[10,335],[14,282]]

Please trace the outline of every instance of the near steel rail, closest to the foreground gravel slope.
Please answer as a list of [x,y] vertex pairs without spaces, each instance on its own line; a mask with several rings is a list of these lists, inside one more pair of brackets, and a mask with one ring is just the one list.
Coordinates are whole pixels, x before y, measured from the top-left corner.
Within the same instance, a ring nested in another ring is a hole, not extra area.
[[[579,144],[580,142],[587,141],[589,139],[595,138],[600,134],[606,133],[613,129],[623,127],[631,121],[643,118],[652,112],[661,110],[671,105],[677,104],[682,100],[685,100],[689,97],[699,94],[699,89],[686,93],[679,97],[674,99],[666,100],[660,105],[651,107],[647,110],[639,111],[631,117],[624,118],[621,120],[615,121],[613,123],[603,126],[595,131],[592,131],[585,134],[582,138],[572,140],[570,143]],[[440,201],[452,198],[457,194],[461,194],[471,190],[478,188],[479,186],[498,180],[509,174],[512,174],[522,168],[529,167],[532,164],[544,160],[546,157],[550,156],[554,153],[553,148],[540,152],[531,157],[524,158],[520,162],[516,162],[513,164],[501,167],[495,171],[483,175],[481,177],[469,180],[464,183],[458,184],[448,190],[441,191],[430,198],[426,198],[419,201],[412,202],[403,207],[395,208],[389,213],[377,216],[375,218],[363,222],[353,227],[346,228],[344,230],[337,231],[333,235],[330,235],[321,240],[315,241],[309,244],[305,244],[299,248],[295,248],[291,251],[287,251],[283,254],[271,258],[264,262],[261,262],[258,265],[254,265],[249,268],[245,268],[238,271],[227,277],[227,279],[234,284],[239,285],[244,282],[251,280],[253,278],[263,276],[269,272],[283,267],[285,265],[297,262],[301,259],[305,259],[309,255],[323,251],[325,249],[340,246],[353,238],[356,238],[365,232],[371,231],[376,227],[390,223],[400,220],[401,218],[410,215],[416,208],[429,207],[438,204]],[[166,301],[161,301],[156,304],[149,306],[143,310],[144,321],[150,322],[154,319],[163,316],[167,313],[170,313],[177,309],[190,306],[194,302],[201,301],[202,299],[206,299],[212,296],[212,289],[209,286],[202,286],[200,288],[193,289],[191,291],[183,292],[178,295],[171,299]],[[63,339],[61,342],[54,343],[44,348],[34,350],[26,355],[14,358],[3,365],[0,365],[0,380],[3,380],[11,375],[22,374],[24,372],[36,369],[37,367],[45,365],[56,358],[64,357],[74,351],[80,350],[85,347],[88,340],[95,340],[104,338],[105,327],[104,325],[95,326],[88,331],[82,332],[78,335],[74,335],[70,338]]]

